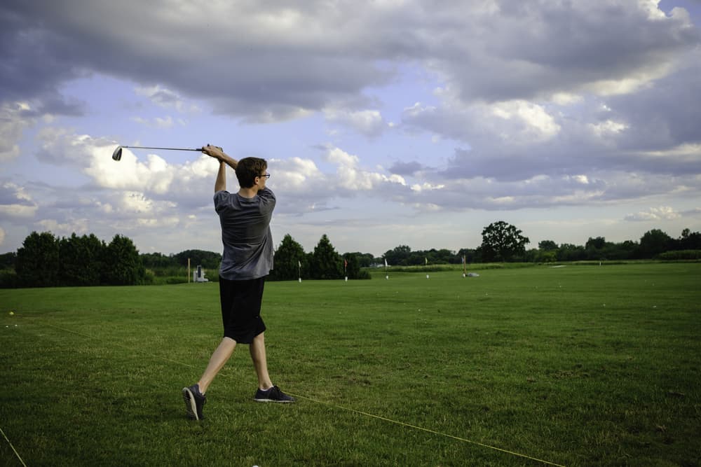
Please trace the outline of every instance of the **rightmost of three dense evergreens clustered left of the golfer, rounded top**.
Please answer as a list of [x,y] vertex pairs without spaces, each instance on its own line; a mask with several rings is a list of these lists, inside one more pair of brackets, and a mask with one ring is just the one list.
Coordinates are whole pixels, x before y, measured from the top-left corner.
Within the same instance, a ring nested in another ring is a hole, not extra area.
[[104,283],[111,286],[142,284],[146,271],[139,251],[128,237],[115,235],[104,256]]

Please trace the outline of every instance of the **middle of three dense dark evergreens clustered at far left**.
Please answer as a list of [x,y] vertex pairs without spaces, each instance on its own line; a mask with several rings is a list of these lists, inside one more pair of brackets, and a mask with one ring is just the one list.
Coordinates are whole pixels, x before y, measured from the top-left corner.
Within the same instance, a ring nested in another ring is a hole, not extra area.
[[60,284],[64,286],[97,286],[104,270],[107,246],[95,235],[78,237],[75,232],[59,242]]

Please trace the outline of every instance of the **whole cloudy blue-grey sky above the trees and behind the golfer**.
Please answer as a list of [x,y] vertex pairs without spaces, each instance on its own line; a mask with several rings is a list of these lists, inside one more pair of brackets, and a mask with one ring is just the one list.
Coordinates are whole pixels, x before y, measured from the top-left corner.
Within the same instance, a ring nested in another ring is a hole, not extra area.
[[700,27],[700,0],[5,0],[0,253],[220,251],[217,162],[118,144],[266,158],[306,251],[698,231]]

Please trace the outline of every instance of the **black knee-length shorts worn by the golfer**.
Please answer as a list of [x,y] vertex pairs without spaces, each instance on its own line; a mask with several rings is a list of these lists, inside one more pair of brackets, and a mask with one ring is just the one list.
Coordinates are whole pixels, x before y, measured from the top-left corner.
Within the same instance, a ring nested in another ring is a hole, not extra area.
[[261,301],[265,277],[247,281],[229,281],[219,277],[224,337],[240,344],[250,344],[265,330],[261,318]]

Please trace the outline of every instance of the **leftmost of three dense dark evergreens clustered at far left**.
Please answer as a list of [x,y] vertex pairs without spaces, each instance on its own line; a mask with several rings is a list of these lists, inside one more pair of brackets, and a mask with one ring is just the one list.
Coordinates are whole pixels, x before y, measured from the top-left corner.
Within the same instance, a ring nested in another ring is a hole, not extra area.
[[32,232],[17,251],[18,281],[25,287],[58,285],[59,244],[51,232]]

